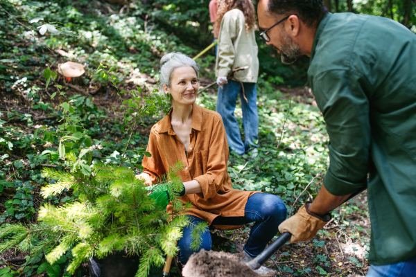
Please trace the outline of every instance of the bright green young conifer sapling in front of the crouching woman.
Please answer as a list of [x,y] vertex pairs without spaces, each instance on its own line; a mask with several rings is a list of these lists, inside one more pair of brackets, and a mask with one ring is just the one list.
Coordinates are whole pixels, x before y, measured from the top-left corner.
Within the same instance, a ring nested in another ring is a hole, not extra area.
[[[77,162],[73,152],[67,154],[69,166]],[[182,166],[177,163],[165,177],[171,190],[179,189],[175,175]],[[63,190],[73,190],[77,200],[63,206],[45,204],[34,224],[4,224],[0,228],[0,253],[12,247],[38,256],[49,249],[46,260],[55,264],[69,249],[74,274],[81,262],[93,256],[103,258],[113,251],[140,257],[136,276],[147,276],[152,265],[162,266],[164,255],[177,252],[175,242],[182,237],[182,227],[189,224],[184,215],[190,204],[182,205],[171,193],[172,213],[158,209],[148,197],[154,187],[146,187],[132,169],[96,164],[92,175],[81,169],[55,170],[44,168],[42,177],[58,180],[42,189],[43,197]]]

